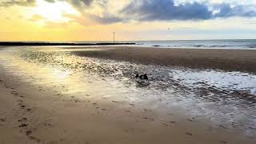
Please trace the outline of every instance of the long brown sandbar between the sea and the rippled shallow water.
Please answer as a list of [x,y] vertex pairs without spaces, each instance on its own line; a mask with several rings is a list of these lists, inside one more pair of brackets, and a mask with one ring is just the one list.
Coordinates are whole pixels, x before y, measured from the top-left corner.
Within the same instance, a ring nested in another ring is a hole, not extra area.
[[256,50],[165,49],[125,46],[100,47],[98,49],[103,50],[74,53],[86,57],[110,58],[160,66],[256,72]]

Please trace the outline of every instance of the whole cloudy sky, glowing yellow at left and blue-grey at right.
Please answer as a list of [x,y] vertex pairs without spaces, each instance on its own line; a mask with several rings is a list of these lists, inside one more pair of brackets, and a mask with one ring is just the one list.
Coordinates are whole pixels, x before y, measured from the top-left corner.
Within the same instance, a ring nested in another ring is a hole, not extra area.
[[256,0],[0,0],[0,41],[256,38]]

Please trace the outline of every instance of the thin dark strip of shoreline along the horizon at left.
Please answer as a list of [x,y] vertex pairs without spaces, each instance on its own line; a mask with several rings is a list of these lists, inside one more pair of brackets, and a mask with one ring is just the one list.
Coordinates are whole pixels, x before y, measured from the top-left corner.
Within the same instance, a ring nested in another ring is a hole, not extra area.
[[74,42],[0,42],[0,46],[114,46],[135,45],[134,42],[99,42],[99,43],[74,43]]

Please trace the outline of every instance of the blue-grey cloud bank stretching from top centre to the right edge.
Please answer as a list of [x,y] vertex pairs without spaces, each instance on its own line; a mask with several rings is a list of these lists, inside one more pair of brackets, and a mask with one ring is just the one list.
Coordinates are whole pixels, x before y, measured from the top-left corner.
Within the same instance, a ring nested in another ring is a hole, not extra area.
[[213,10],[218,10],[217,14],[210,10],[207,3],[186,2],[175,5],[174,0],[134,0],[122,10],[122,14],[130,15],[130,18],[138,21],[207,20],[256,16],[255,7],[254,9],[248,9],[246,6],[231,7],[226,3],[212,7]]

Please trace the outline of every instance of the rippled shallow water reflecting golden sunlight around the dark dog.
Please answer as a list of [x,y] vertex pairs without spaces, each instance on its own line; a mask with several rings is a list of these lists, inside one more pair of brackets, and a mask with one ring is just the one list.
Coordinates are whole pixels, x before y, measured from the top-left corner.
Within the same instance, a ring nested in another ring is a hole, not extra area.
[[[31,85],[78,98],[112,98],[150,107],[162,115],[180,110],[215,126],[256,134],[256,75],[222,70],[141,65],[80,57],[82,50],[50,46],[0,50],[0,67]],[[149,82],[134,74],[147,73]]]

